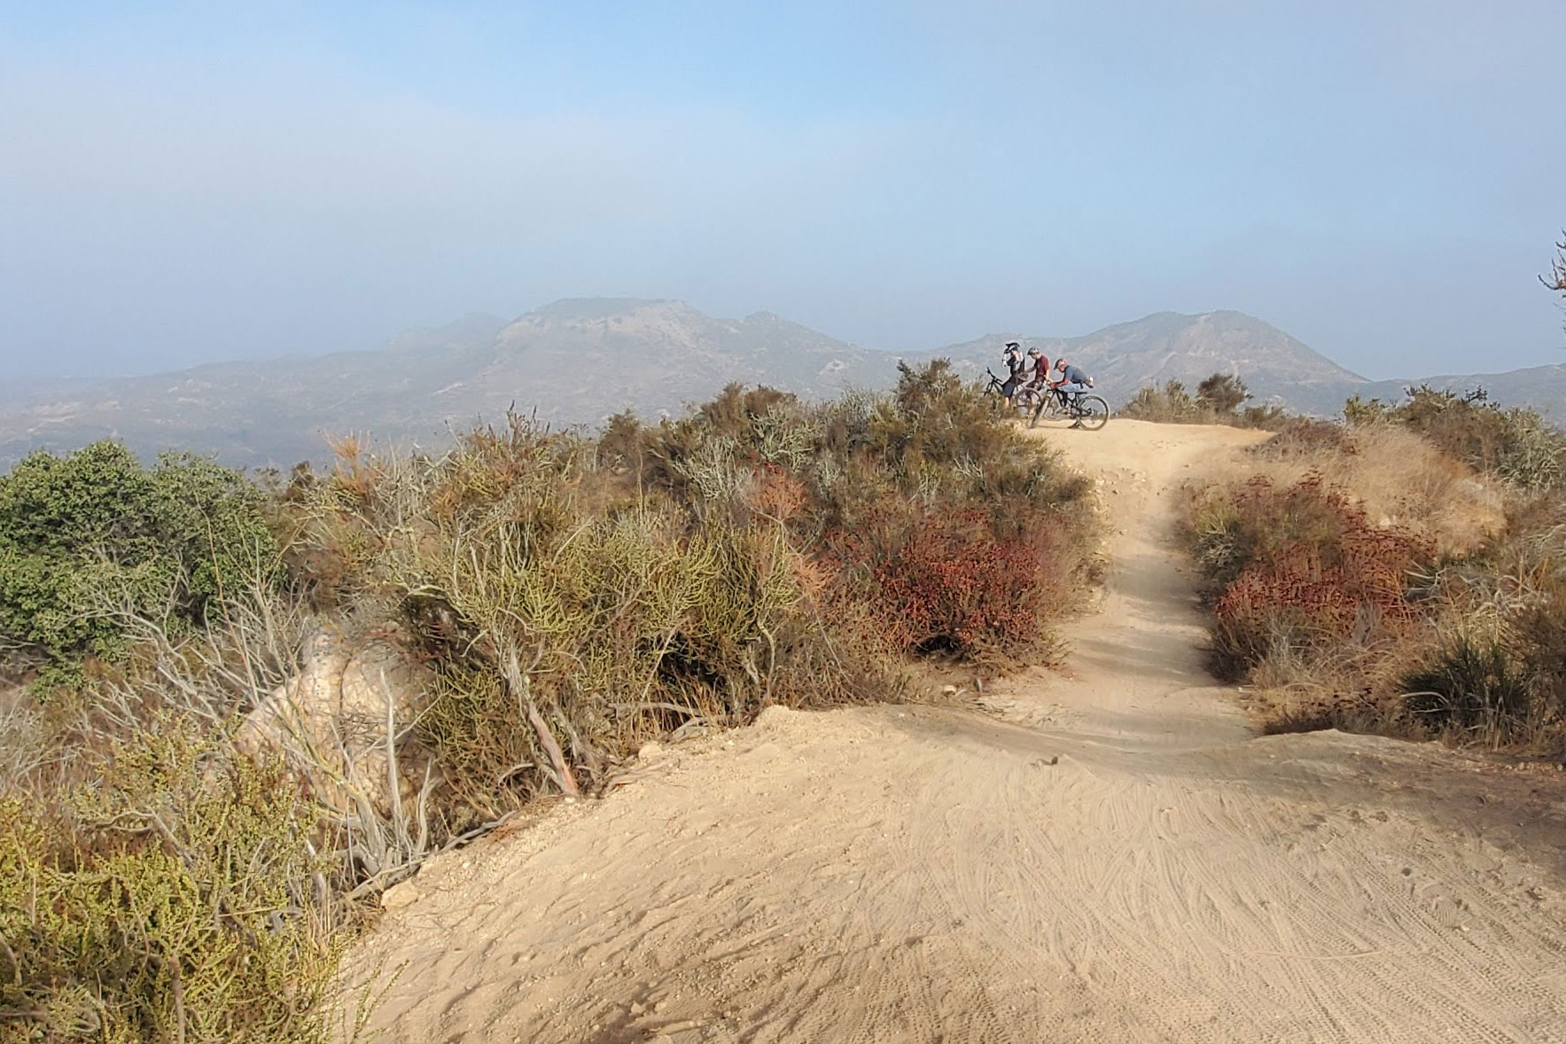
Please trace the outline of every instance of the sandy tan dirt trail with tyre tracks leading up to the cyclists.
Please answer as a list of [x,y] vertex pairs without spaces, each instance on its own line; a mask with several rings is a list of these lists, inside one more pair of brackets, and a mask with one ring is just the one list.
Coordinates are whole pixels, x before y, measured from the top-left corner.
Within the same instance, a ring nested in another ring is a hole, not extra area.
[[1164,507],[1231,429],[1048,432],[1123,527],[1070,676],[769,711],[429,867],[355,953],[404,1041],[1566,1041],[1561,783],[1257,737]]

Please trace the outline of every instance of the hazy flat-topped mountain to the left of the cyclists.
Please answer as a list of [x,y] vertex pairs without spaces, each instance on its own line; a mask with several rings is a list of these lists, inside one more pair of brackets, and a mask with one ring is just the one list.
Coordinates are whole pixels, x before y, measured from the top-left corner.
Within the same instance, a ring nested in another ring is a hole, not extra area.
[[561,301],[514,322],[467,316],[377,352],[221,363],[69,385],[0,415],[0,463],[116,437],[132,449],[216,452],[233,465],[326,455],[326,438],[440,445],[515,405],[554,424],[656,416],[730,380],[802,394],[886,382],[888,358],[758,313],[711,319],[672,301]]

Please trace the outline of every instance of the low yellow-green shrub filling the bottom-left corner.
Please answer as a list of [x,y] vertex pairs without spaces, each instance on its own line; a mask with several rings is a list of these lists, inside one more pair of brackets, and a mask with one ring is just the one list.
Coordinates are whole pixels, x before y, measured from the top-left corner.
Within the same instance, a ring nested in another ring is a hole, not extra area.
[[0,1039],[324,1039],[298,786],[175,718],[105,754],[64,800],[0,795]]

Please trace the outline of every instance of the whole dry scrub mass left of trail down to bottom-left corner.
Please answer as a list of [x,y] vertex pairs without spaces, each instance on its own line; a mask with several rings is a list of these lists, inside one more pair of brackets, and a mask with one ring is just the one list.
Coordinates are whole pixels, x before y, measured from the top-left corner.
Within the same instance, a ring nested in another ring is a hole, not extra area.
[[[125,654],[0,697],[0,1038],[319,1039],[359,900],[650,737],[1040,650],[1096,543],[1088,484],[944,363],[595,441],[509,418],[440,457],[337,451],[265,506],[288,582],[251,556],[199,626],[172,582],[100,585],[69,623]],[[363,761],[266,717],[321,628],[401,634],[434,679],[351,722]]]

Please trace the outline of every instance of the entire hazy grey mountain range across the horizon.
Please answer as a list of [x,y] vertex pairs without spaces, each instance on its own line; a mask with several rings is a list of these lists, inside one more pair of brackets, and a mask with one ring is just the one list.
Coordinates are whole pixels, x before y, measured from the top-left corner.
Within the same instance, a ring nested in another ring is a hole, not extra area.
[[[731,380],[805,398],[883,388],[897,358],[947,357],[969,377],[999,369],[1007,340],[1065,354],[1112,404],[1138,387],[1215,371],[1245,379],[1257,399],[1334,413],[1348,394],[1398,398],[1405,380],[1370,382],[1261,319],[1239,311],[1157,313],[1087,337],[988,335],[941,349],[863,349],[770,313],[716,319],[677,301],[557,301],[506,322],[470,315],[392,338],[382,351],[199,366],[102,382],[30,382],[0,390],[0,463],[34,448],[72,449],[116,437],[155,454],[189,449],[235,465],[291,465],[329,455],[326,438],[440,446],[512,405],[553,424],[598,423],[623,409],[673,413]],[[1566,365],[1513,374],[1430,379],[1481,383],[1508,404],[1566,419]],[[1417,382],[1417,380],[1416,380]]]

